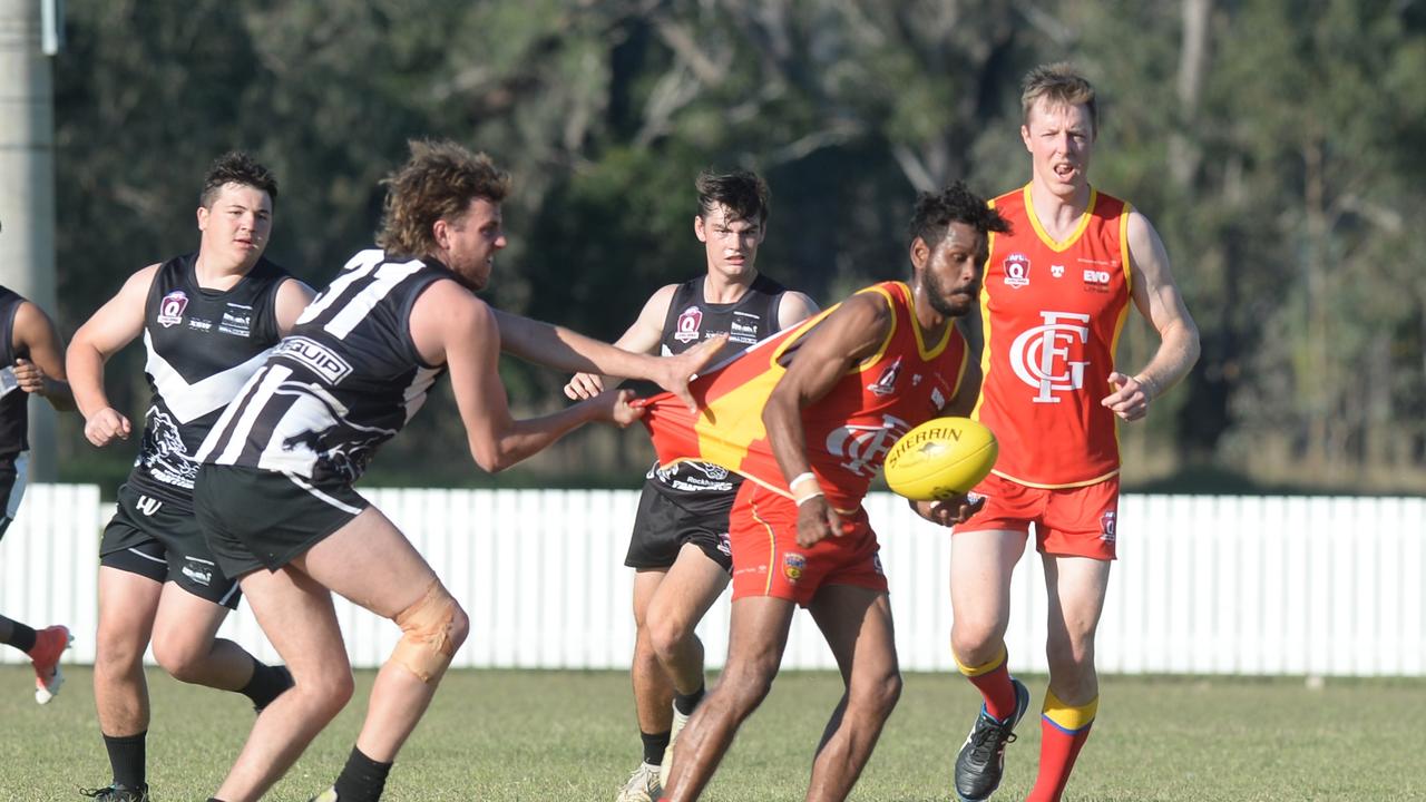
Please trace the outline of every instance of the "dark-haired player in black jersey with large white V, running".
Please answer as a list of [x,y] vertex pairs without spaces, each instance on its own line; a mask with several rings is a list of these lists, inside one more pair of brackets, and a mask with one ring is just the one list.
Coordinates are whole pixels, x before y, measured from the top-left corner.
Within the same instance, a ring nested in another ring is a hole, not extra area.
[[262,257],[277,181],[242,153],[214,161],[198,205],[198,251],[145,267],[74,334],[70,381],[96,447],[133,427],[104,391],[104,362],[143,335],[153,391],[134,469],[100,542],[94,701],[114,781],[101,801],[147,799],[144,651],[184,681],[262,708],[291,685],[282,666],[215,638],[238,604],[193,515],[193,452],[222,407],[291,330],[312,291]]

